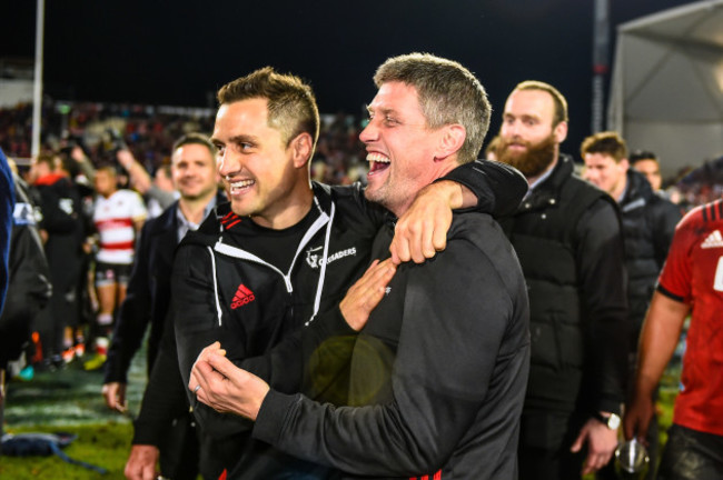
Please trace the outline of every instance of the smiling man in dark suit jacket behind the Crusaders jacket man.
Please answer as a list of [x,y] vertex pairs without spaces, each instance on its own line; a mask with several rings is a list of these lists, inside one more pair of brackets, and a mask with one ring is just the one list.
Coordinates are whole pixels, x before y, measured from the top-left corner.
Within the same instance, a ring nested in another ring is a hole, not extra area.
[[[158,356],[164,322],[170,304],[170,273],[174,251],[189,230],[196,230],[217,202],[216,149],[208,138],[189,133],[171,150],[171,179],[180,197],[159,217],[143,224],[128,293],[120,307],[105,369],[102,394],[112,410],[125,411],[130,362],[140,348],[150,323],[147,366],[150,377]],[[167,372],[170,374],[170,372]],[[133,428],[127,472],[140,471],[146,463],[155,470],[160,459],[161,473],[174,479],[195,479],[198,471],[198,440],[190,427],[188,409],[153,416],[148,426],[148,407],[142,406]],[[169,439],[172,438],[172,441]]]

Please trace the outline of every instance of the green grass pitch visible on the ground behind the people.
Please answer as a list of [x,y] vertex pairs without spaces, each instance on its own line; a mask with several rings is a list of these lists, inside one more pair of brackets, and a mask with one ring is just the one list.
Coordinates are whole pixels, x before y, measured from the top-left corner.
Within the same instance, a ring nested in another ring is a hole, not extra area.
[[[136,356],[129,374],[129,414],[106,408],[100,396],[102,374],[86,372],[79,364],[66,370],[36,376],[31,382],[11,382],[6,407],[6,433],[27,431],[75,433],[65,451],[108,470],[105,476],[50,457],[0,457],[0,479],[123,479],[123,467],[132,436],[131,416],[137,413],[146,383],[145,353]],[[661,444],[672,421],[672,404],[677,392],[680,366],[668,368],[661,384]],[[587,479],[593,479],[590,476]]]

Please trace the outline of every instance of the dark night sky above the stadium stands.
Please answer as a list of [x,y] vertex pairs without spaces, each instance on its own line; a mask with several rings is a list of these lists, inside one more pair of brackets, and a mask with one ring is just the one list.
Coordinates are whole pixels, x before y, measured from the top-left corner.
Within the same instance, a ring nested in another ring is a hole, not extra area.
[[[610,1],[613,29],[691,3]],[[4,3],[0,57],[32,58],[34,1]],[[321,112],[357,113],[379,63],[427,51],[477,74],[493,132],[517,82],[557,87],[575,153],[590,133],[592,28],[593,0],[46,0],[43,78],[56,99],[209,107],[220,86],[270,64],[308,80]]]

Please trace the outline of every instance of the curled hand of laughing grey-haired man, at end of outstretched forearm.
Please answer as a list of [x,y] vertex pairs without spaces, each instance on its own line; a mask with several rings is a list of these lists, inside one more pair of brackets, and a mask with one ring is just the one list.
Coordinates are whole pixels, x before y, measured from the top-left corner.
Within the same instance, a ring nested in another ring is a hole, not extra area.
[[196,360],[188,388],[200,402],[218,412],[236,413],[256,420],[269,386],[219,354],[218,342],[209,347],[211,349],[204,349],[202,358],[199,356]]

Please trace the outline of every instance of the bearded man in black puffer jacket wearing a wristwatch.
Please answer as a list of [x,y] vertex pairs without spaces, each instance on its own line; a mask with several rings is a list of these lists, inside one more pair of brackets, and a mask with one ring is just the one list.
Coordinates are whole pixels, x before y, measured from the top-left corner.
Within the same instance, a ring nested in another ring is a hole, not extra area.
[[580,479],[617,444],[627,324],[621,226],[613,200],[561,153],[567,102],[519,83],[507,98],[498,159],[529,192],[501,221],[525,272],[532,359],[522,416],[521,479]]

